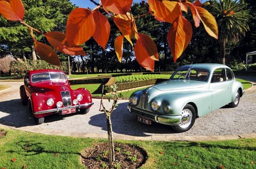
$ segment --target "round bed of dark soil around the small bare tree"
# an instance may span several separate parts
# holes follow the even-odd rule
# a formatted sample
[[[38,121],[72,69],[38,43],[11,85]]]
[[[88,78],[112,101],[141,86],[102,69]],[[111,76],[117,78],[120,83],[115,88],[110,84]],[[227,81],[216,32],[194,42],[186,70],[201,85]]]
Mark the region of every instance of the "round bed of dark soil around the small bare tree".
[[[109,162],[109,144],[95,144],[82,153],[82,164],[87,168],[139,168],[147,160],[142,148],[122,143],[114,143],[115,161]]]

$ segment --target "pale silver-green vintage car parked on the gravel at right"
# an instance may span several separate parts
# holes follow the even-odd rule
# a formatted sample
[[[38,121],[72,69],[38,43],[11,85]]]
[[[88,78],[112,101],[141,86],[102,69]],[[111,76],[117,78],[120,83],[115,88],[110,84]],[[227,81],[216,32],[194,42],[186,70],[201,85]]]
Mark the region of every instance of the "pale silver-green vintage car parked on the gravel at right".
[[[171,125],[184,132],[198,117],[227,104],[238,106],[244,92],[229,67],[192,64],[180,67],[167,81],[134,92],[127,108],[140,122]]]

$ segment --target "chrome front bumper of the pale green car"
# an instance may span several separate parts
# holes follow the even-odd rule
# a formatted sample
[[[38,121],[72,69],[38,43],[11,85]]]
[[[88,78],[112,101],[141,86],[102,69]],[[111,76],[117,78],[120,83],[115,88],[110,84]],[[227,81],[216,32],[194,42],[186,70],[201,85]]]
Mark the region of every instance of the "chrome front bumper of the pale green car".
[[[161,123],[165,125],[178,125],[181,123],[181,118],[182,118],[181,115],[176,115],[176,116],[159,115],[150,111],[145,111],[143,109],[132,107],[130,105],[128,105],[127,108],[132,114],[135,114],[137,116],[140,116],[146,119],[150,119],[156,123]]]

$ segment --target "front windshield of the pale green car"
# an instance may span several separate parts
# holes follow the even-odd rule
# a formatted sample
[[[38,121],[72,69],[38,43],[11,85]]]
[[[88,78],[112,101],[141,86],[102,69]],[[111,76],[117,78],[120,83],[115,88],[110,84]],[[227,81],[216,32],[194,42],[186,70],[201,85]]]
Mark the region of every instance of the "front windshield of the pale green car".
[[[176,71],[170,79],[207,80],[209,72],[203,69],[181,69]]]

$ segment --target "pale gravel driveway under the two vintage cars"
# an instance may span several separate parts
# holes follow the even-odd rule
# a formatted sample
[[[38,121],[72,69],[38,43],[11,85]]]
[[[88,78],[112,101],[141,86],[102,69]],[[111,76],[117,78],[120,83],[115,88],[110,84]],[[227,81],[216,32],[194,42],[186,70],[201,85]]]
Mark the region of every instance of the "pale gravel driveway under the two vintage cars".
[[[255,77],[254,77],[255,79]],[[256,81],[256,80],[255,80]],[[106,134],[105,115],[99,111],[100,100],[93,99],[94,105],[86,115],[72,114],[66,116],[52,115],[45,118],[45,123],[35,125],[32,115],[19,98],[19,86],[23,82],[0,82],[10,85],[11,89],[0,92],[0,124],[19,128],[33,126],[42,130],[58,132],[75,132]],[[137,122],[136,116],[127,110],[127,100],[119,100],[112,114],[112,127],[115,134],[127,136],[212,136],[239,135],[256,133],[256,86],[246,91],[236,108],[222,107],[210,114],[198,118],[187,132],[176,133],[169,126],[153,123],[147,126]],[[109,107],[108,100],[104,100]]]

